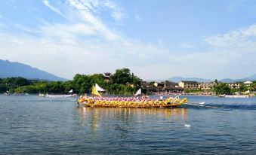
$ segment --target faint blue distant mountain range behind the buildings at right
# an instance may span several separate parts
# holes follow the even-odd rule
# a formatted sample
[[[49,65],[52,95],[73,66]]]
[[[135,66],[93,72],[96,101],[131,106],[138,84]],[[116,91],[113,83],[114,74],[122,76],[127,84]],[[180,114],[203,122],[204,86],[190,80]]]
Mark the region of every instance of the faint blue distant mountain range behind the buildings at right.
[[[160,82],[160,81],[172,81],[172,82],[180,82],[180,81],[197,81],[197,82],[211,82],[214,80],[209,80],[209,79],[204,79],[204,78],[182,78],[182,77],[173,77],[173,78],[168,78],[166,80],[149,80],[149,81],[156,81],[156,82]],[[243,81],[256,81],[256,74],[252,74],[251,76],[248,76],[246,78],[241,78],[241,79],[230,79],[230,78],[224,78],[221,80],[218,80],[221,82],[226,82],[226,83],[233,83],[233,82],[243,82]]]

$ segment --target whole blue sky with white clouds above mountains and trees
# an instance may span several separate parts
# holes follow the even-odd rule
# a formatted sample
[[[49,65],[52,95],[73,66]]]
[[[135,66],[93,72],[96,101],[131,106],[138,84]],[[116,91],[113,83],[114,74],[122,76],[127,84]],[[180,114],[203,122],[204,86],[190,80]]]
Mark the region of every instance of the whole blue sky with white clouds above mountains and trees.
[[[245,78],[256,73],[256,1],[0,0],[0,59],[67,79],[117,68]]]

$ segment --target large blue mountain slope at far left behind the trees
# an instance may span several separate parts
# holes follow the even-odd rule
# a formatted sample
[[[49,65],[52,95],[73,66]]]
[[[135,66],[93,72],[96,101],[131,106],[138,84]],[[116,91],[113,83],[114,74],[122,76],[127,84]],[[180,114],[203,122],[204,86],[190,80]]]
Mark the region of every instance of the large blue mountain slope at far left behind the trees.
[[[32,68],[30,65],[20,62],[9,62],[8,60],[0,59],[0,68],[0,78],[23,77],[48,81],[66,81],[64,78],[57,77],[38,68]]]

